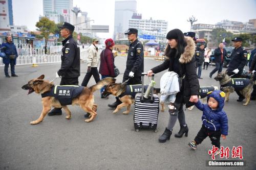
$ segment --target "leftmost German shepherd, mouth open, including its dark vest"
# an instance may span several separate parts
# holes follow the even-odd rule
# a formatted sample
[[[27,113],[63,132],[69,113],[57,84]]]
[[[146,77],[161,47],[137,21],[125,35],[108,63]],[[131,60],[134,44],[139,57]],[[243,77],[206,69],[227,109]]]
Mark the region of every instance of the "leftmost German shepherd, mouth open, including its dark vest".
[[[44,120],[44,117],[54,108],[63,108],[66,111],[66,118],[71,118],[71,112],[67,105],[79,105],[85,112],[90,113],[90,117],[85,122],[91,122],[97,115],[97,105],[94,104],[93,92],[101,89],[105,85],[113,83],[116,79],[108,77],[100,80],[91,87],[83,86],[54,86],[52,82],[43,80],[45,75],[41,75],[36,79],[30,80],[22,86],[22,89],[28,90],[28,94],[32,92],[41,94],[42,96],[42,112],[38,119],[30,122],[36,125]]]

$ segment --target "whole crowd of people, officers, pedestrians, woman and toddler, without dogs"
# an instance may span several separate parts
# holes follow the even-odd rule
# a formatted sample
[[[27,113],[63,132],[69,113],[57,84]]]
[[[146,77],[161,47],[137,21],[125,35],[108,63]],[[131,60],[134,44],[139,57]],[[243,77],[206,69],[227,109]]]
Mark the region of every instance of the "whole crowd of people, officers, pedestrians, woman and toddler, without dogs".
[[[64,22],[60,28],[60,34],[65,40],[62,41],[62,55],[61,66],[56,72],[56,78],[60,77],[60,85],[78,85],[78,77],[80,76],[80,51],[77,42],[72,37],[74,26],[68,22]],[[127,38],[131,41],[129,50],[127,52],[126,68],[124,71],[122,82],[127,81],[127,85],[141,84],[141,74],[144,71],[144,54],[143,45],[138,40],[138,30],[130,28],[125,33]],[[202,79],[202,69],[208,69],[211,50],[205,47],[204,44],[196,47],[195,33],[182,33],[179,29],[171,30],[167,33],[166,39],[168,44],[165,48],[166,59],[164,62],[147,71],[147,76],[157,74],[158,72],[168,69],[177,73],[180,81],[180,91],[176,94],[175,102],[172,103],[174,109],[169,109],[169,120],[163,134],[159,137],[159,142],[165,142],[170,139],[173,128],[177,122],[180,124],[180,130],[175,134],[175,137],[182,137],[188,135],[188,125],[185,119],[185,112],[183,105],[186,108],[196,105],[198,109],[203,111],[202,127],[189,146],[193,149],[197,148],[207,136],[209,136],[212,145],[220,149],[220,138],[226,138],[228,135],[228,119],[224,107],[225,93],[220,90],[210,92],[207,96],[207,104],[201,104],[198,99],[199,96],[199,81]],[[16,58],[18,57],[16,47],[11,41],[11,36],[6,37],[6,43],[1,46],[1,52],[5,53],[7,57],[3,59],[5,63],[5,76],[9,78],[8,67],[11,65],[11,76],[17,77],[14,71]],[[232,78],[239,78],[242,75],[244,66],[249,61],[249,71],[254,74],[256,70],[256,57],[254,49],[248,58],[247,51],[242,47],[242,38],[235,37],[233,40],[234,51],[231,54],[231,61],[227,68],[227,74]],[[88,49],[87,73],[81,83],[82,86],[87,86],[91,76],[94,77],[95,82],[100,81],[106,77],[116,77],[114,54],[112,53],[115,42],[109,38],[105,40],[105,49],[99,54],[98,39],[93,39],[91,46]],[[214,51],[215,68],[210,72],[209,77],[215,72],[221,72],[224,58],[227,52],[224,44],[220,43],[219,47]],[[99,58],[100,56],[100,58]],[[100,61],[99,71],[98,64]],[[198,71],[197,71],[198,69]],[[255,75],[255,74],[254,74]],[[255,76],[254,76],[255,80]],[[101,89],[101,93],[103,92]],[[237,91],[239,95],[238,101],[243,101],[244,97]],[[256,87],[253,86],[251,100],[255,100]],[[104,98],[104,96],[101,96]],[[121,104],[119,98],[108,106],[116,108]],[[52,109],[48,115],[61,115],[61,108]],[[88,117],[85,114],[84,117]]]

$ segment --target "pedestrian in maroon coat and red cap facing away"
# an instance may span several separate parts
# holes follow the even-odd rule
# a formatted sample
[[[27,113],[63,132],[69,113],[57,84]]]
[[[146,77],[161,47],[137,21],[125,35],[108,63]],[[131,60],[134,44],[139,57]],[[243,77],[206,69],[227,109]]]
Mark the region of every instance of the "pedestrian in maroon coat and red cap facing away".
[[[106,77],[115,77],[114,55],[112,53],[115,42],[113,39],[109,38],[105,40],[105,45],[106,48],[100,53],[99,74],[101,75],[101,79],[104,79]],[[105,87],[102,87],[100,89],[100,94],[102,94],[104,88]],[[101,98],[103,98],[102,95]],[[108,97],[103,99],[108,99]]]

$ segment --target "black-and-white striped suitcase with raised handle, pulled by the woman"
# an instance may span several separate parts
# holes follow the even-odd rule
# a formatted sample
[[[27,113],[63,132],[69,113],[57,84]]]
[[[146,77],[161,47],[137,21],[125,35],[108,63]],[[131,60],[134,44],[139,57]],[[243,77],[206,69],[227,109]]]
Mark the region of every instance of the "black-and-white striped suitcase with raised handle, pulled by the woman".
[[[144,75],[145,73],[142,74],[142,85],[144,84]],[[154,80],[154,75],[152,80]],[[148,99],[145,99],[143,98],[144,88],[142,86],[141,93],[137,93],[135,96],[134,128],[136,132],[142,128],[154,129],[154,132],[157,132],[159,97],[157,94],[153,94],[153,91],[154,89],[152,89]]]

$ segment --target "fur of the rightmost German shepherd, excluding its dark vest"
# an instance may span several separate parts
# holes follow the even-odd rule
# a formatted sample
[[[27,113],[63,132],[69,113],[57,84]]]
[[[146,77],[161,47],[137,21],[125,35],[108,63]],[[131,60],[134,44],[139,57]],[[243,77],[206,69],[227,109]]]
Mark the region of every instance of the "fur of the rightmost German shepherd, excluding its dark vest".
[[[220,85],[225,85],[232,81],[231,77],[229,77],[226,72],[219,72],[219,74],[214,79],[219,81]],[[250,95],[254,84],[256,84],[256,81],[253,81],[253,76],[251,76],[249,84],[240,90],[240,93],[246,99],[245,103],[243,104],[244,106],[250,103]],[[232,86],[224,86],[221,87],[221,90],[226,93],[225,102],[228,102],[230,93],[234,92],[235,89]]]

